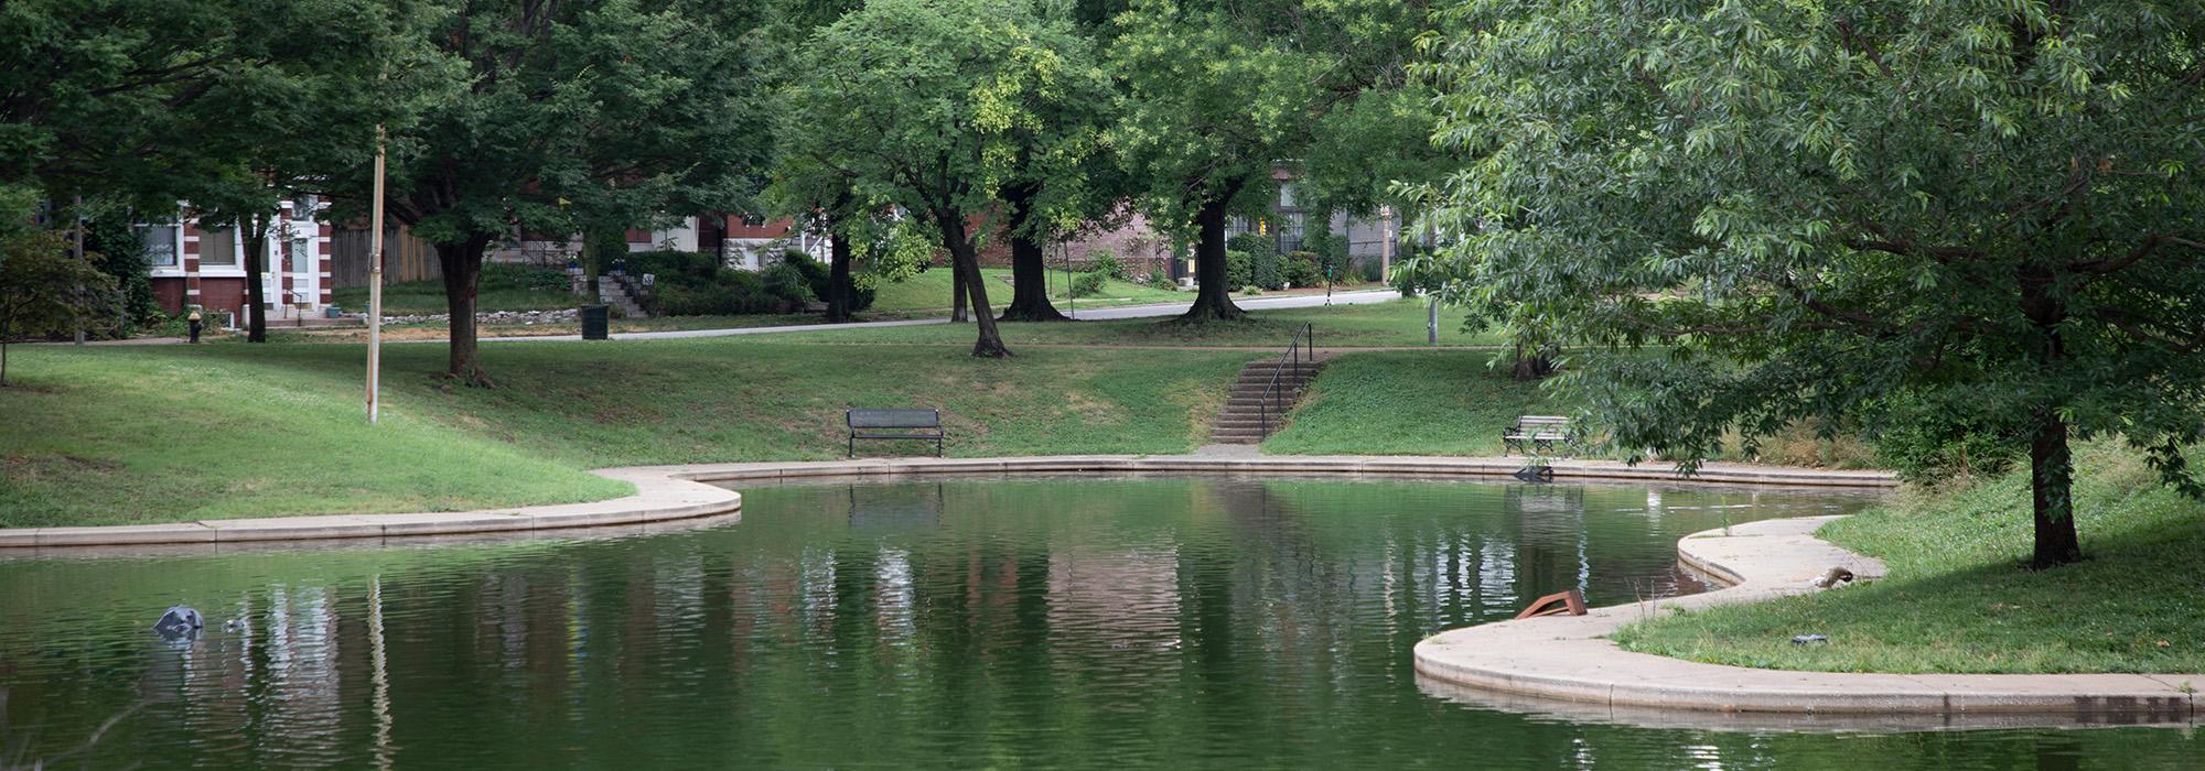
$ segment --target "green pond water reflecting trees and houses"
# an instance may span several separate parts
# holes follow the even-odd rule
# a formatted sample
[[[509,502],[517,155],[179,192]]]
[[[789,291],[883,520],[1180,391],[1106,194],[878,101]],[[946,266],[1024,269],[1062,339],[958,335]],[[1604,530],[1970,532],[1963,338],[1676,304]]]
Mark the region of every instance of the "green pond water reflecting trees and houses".
[[[1868,498],[1438,480],[743,487],[576,540],[0,560],[0,769],[2185,769],[2183,729],[1570,723],[1411,648],[1700,590],[1678,537]],[[209,626],[163,641],[190,604]],[[106,731],[101,727],[106,725]],[[93,736],[97,740],[90,740]]]

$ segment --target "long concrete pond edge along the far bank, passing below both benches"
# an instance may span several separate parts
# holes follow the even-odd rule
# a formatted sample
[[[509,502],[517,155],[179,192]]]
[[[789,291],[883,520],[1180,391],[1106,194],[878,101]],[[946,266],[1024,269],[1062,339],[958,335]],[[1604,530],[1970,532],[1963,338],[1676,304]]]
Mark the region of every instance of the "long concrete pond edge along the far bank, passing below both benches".
[[[1372,476],[1495,476],[1524,467],[1524,458],[1444,456],[1023,456],[1023,458],[856,458],[796,463],[701,463],[598,469],[593,474],[635,485],[635,496],[450,513],[342,513],[298,518],[198,520],[170,524],[101,524],[0,529],[0,555],[73,551],[86,546],[220,546],[247,542],[313,540],[415,540],[432,535],[481,535],[571,531],[589,526],[635,526],[739,513],[743,496],[708,482],[792,480],[829,476],[895,474],[1372,474]],[[1784,487],[1892,487],[1883,471],[1824,471],[1711,463],[1696,476],[1654,465],[1607,460],[1555,460],[1557,480],[1660,480],[1713,485]]]

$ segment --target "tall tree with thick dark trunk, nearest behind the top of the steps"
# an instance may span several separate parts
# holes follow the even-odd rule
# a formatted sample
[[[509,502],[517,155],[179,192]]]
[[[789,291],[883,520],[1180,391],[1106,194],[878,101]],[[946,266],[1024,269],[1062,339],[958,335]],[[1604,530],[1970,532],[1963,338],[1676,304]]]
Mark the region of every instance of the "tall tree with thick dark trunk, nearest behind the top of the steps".
[[[1105,44],[1122,84],[1111,143],[1144,211],[1195,234],[1184,319],[1235,319],[1226,225],[1255,214],[1325,117],[1398,70],[1422,2],[1133,0]]]

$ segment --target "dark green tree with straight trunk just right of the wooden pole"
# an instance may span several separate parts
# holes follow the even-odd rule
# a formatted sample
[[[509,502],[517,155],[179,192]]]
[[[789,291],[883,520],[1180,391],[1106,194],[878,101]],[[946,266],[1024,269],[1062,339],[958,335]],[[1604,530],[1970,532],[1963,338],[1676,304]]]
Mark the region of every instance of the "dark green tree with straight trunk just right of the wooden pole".
[[[736,170],[717,165],[745,154],[719,143],[747,141],[747,59],[723,40],[734,31],[712,24],[723,4],[703,0],[450,2],[430,40],[465,77],[392,134],[390,216],[437,249],[448,374],[485,386],[474,341],[483,251],[518,229],[578,227],[560,192],[591,183],[730,189]],[[633,207],[609,192],[584,200],[602,203],[598,214]]]

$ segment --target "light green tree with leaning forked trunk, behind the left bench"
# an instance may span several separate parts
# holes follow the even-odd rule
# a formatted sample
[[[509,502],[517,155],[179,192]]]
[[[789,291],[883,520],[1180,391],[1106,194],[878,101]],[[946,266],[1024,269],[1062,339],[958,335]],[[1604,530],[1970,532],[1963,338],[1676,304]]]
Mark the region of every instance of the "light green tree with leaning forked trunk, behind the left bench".
[[[1050,134],[1072,84],[1098,77],[1065,22],[1025,0],[878,0],[814,35],[787,93],[783,152],[849,181],[869,209],[924,220],[970,302],[977,357],[1008,357],[979,273],[975,218]],[[1041,145],[1047,148],[1047,145]]]

